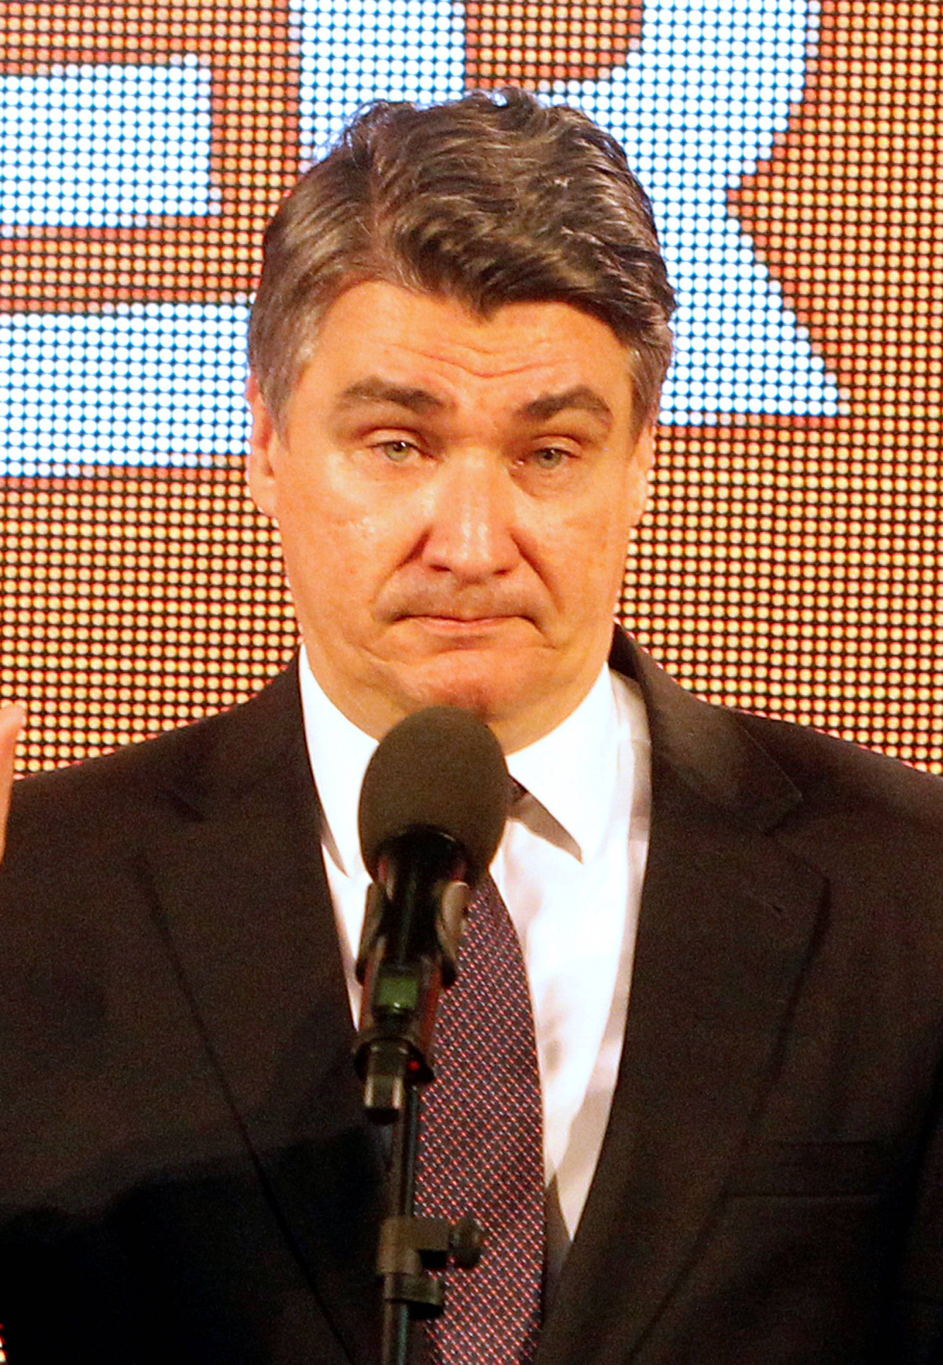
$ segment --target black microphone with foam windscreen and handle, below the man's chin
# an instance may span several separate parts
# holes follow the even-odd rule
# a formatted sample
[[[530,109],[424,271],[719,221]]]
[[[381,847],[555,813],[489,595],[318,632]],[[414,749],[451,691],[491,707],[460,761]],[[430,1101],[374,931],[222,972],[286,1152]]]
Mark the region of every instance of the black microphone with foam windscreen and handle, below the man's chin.
[[[497,738],[454,706],[400,721],[367,766],[359,830],[373,885],[355,1063],[377,1122],[404,1110],[407,1084],[433,1078],[438,999],[454,980],[465,908],[501,841],[509,794]]]

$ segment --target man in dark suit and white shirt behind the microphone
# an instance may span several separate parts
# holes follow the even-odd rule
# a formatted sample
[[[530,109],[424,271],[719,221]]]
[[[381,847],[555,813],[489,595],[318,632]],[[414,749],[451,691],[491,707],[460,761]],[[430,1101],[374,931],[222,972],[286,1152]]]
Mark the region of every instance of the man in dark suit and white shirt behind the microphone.
[[[528,793],[495,882],[557,1230],[536,1355],[482,1360],[943,1358],[943,799],[613,635],[670,310],[621,152],[524,96],[367,112],[282,206],[250,485],[302,658],[12,801],[11,1365],[378,1360],[345,811],[441,702]]]

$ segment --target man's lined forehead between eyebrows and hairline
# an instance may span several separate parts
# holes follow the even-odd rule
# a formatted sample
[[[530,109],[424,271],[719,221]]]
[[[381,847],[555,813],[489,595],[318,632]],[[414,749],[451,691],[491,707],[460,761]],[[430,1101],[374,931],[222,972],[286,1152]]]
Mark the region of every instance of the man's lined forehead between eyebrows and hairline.
[[[377,377],[444,407],[583,386],[613,410],[630,404],[630,352],[598,318],[566,303],[509,303],[487,317],[454,299],[385,281],[356,284],[328,310],[296,396],[338,401]]]

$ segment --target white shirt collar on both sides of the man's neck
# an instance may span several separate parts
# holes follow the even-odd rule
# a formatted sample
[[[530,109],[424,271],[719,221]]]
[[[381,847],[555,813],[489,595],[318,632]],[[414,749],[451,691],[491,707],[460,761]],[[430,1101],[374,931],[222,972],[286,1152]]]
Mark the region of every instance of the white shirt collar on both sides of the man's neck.
[[[325,848],[341,872],[364,874],[358,805],[377,740],[325,695],[302,647],[299,677],[308,759],[323,814]],[[603,665],[587,696],[550,734],[508,756],[508,768],[587,860],[607,829],[618,778],[620,715]]]

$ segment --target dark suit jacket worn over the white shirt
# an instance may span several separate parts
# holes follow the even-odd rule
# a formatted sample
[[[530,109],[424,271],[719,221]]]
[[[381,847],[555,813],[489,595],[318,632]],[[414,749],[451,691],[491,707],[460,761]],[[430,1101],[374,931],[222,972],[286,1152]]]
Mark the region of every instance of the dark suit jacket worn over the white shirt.
[[[614,663],[651,850],[539,1365],[938,1361],[940,784],[708,707],[621,636]],[[18,784],[0,902],[11,1365],[377,1361],[382,1149],[295,670]]]

